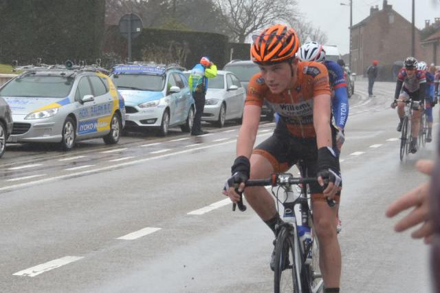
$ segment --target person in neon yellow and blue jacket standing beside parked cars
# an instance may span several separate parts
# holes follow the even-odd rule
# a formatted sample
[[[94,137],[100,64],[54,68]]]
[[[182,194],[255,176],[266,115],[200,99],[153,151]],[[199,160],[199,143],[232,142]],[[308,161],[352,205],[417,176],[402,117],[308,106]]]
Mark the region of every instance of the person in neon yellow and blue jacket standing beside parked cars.
[[[192,68],[188,83],[192,98],[195,102],[195,117],[192,123],[191,135],[201,135],[207,132],[201,130],[201,115],[205,107],[206,89],[208,89],[208,78],[217,76],[217,66],[208,57],[203,56],[200,63]]]

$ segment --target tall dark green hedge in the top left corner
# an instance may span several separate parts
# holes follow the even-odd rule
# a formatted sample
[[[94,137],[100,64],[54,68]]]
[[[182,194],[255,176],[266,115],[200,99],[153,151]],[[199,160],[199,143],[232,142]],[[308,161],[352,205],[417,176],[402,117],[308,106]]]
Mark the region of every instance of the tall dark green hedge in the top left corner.
[[[99,58],[105,0],[1,0],[0,63]]]

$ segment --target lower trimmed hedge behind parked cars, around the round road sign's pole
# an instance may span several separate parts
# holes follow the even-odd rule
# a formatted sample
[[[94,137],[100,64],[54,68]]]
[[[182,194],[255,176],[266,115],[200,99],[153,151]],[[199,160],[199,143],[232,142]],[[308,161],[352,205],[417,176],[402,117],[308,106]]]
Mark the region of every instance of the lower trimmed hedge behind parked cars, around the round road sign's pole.
[[[124,62],[128,56],[126,39],[119,33],[118,27],[110,26],[104,39],[104,56],[113,61]],[[179,63],[190,69],[208,56],[218,68],[229,61],[228,36],[210,32],[192,32],[185,30],[162,30],[144,28],[140,36],[133,40],[133,61],[154,61],[158,63]]]

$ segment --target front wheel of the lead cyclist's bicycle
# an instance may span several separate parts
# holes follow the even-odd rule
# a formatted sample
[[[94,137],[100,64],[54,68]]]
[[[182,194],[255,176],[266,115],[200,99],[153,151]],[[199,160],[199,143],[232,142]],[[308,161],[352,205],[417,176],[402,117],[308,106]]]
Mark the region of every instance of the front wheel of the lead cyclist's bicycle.
[[[300,283],[300,248],[293,228],[281,228],[275,244],[274,292],[303,292]]]

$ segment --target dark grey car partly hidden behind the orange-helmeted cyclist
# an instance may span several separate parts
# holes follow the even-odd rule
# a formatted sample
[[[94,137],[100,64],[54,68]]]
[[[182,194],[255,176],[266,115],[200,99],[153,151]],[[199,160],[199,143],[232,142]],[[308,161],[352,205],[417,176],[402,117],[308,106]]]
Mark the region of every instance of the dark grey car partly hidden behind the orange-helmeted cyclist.
[[[248,91],[248,83],[250,78],[256,73],[260,72],[258,65],[250,60],[232,60],[230,63],[223,67],[223,70],[234,73],[240,80],[241,85]],[[261,108],[261,115],[264,115],[266,120],[274,120],[274,109],[269,105],[269,103],[264,101],[264,105]]]

